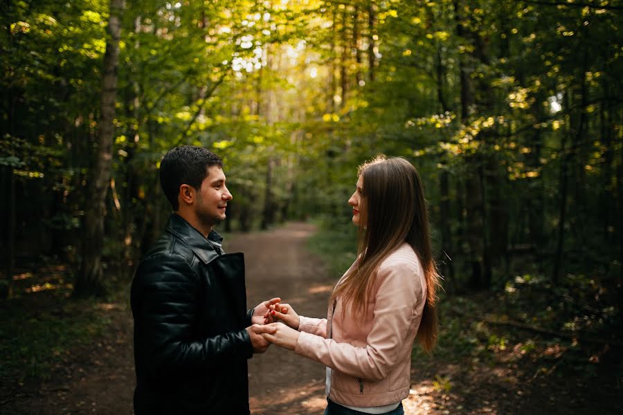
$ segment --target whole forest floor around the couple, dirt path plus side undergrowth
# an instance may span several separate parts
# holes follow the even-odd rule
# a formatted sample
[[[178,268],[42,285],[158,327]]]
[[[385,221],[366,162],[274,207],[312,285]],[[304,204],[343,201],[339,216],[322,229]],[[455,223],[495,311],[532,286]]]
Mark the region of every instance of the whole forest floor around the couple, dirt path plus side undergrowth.
[[[336,278],[329,277],[323,261],[307,250],[305,241],[313,232],[312,225],[289,223],[226,239],[228,252],[244,252],[249,306],[280,296],[302,315],[325,315]],[[54,272],[53,268],[48,271]],[[36,278],[38,285],[33,285]],[[62,286],[61,277],[48,277],[44,282],[40,275],[30,279],[26,285],[31,291],[33,286]],[[8,316],[0,322],[0,364],[5,366],[0,368],[0,414],[132,414],[135,380],[129,290],[116,301],[95,306],[80,302],[67,306],[68,300],[54,297],[51,291],[41,289],[0,302],[0,312]],[[411,393],[403,401],[406,414],[622,413],[620,345],[597,344],[586,360],[575,340],[548,338],[548,333],[534,338],[530,329],[521,328],[505,335],[508,327],[491,320],[498,306],[498,299],[490,293],[455,297],[442,304],[440,351],[431,357],[414,352]],[[26,359],[23,365],[8,361],[26,356],[22,348],[28,345],[10,343],[5,335],[16,338],[39,321],[51,325],[80,315],[91,324],[86,334],[75,332],[71,347],[53,347],[45,374],[39,368],[33,369],[36,376],[29,375],[24,365],[33,367],[33,362]],[[84,327],[84,322],[79,324]],[[482,331],[485,338],[443,335],[444,331],[463,333],[464,328],[478,331],[487,324],[491,327]],[[54,342],[55,333],[71,333],[70,327],[60,326],[58,332],[49,329],[46,333],[52,340],[44,340]],[[45,346],[37,347],[49,352]],[[249,361],[254,415],[321,414],[326,405],[324,387],[322,365],[277,347]]]

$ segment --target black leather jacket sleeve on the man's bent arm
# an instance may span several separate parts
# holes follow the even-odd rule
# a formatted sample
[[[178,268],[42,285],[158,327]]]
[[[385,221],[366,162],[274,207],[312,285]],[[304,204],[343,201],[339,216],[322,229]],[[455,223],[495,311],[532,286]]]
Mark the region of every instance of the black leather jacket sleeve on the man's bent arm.
[[[132,282],[136,353],[154,374],[204,371],[224,359],[253,355],[242,329],[209,338],[193,338],[199,278],[179,255],[145,259]]]

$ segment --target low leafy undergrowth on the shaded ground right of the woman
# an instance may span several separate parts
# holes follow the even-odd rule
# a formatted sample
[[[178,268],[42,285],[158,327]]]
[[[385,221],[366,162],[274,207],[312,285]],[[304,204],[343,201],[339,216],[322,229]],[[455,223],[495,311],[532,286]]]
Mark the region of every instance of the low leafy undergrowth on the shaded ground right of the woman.
[[[529,380],[595,378],[602,356],[621,343],[603,293],[586,278],[568,276],[552,287],[547,279],[522,276],[498,293],[444,298],[437,347],[427,355],[416,345],[413,362],[498,367]]]

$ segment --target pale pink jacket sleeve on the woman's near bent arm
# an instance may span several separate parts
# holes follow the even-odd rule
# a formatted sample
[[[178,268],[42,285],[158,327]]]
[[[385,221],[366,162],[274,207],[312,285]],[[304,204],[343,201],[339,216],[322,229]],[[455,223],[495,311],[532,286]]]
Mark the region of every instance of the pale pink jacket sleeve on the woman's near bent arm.
[[[386,378],[397,364],[424,301],[421,271],[411,264],[383,264],[377,275],[372,328],[365,344],[338,343],[300,333],[295,353],[344,374],[368,380]]]

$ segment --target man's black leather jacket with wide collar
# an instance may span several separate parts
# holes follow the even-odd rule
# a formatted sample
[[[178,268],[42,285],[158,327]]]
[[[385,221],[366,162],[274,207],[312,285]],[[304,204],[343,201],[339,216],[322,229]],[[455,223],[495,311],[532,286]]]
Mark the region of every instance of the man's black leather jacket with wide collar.
[[[136,414],[249,414],[244,257],[223,254],[220,241],[172,214],[138,266]]]

